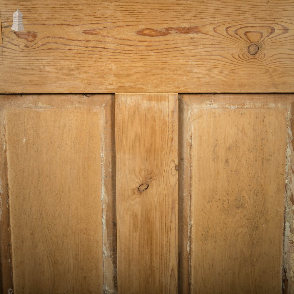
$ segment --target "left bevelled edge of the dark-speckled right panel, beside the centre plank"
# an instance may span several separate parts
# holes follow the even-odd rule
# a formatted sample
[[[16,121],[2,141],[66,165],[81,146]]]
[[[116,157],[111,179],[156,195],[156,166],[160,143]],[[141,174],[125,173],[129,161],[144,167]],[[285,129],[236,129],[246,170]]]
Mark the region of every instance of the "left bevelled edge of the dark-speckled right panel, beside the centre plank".
[[[178,293],[191,293],[191,141],[189,106],[179,96]]]

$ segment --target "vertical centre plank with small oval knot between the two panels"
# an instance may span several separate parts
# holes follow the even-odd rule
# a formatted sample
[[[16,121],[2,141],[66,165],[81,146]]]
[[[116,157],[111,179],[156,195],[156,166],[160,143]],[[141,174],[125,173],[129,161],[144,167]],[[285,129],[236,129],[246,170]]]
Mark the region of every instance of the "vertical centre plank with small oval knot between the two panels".
[[[177,293],[177,94],[116,94],[115,126],[118,293]]]

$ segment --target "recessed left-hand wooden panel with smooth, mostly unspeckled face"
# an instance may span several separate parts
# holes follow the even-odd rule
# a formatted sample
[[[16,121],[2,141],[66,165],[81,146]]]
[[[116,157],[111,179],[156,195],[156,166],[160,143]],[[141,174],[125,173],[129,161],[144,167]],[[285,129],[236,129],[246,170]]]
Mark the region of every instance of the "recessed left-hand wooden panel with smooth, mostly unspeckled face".
[[[14,293],[115,293],[112,97],[0,96]]]

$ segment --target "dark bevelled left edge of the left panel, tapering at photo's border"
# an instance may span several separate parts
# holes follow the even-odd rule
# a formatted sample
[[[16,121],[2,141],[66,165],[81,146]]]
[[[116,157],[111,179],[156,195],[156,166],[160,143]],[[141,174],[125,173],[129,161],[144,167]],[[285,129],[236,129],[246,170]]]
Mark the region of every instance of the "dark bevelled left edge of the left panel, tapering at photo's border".
[[[10,233],[10,214],[9,214],[9,183],[8,167],[6,156],[6,126],[5,113],[0,110],[1,119],[1,226],[0,226],[0,271],[1,271],[1,289],[0,293],[13,293],[13,275],[12,275],[12,256],[11,256],[11,233]],[[11,292],[12,291],[12,292]]]

